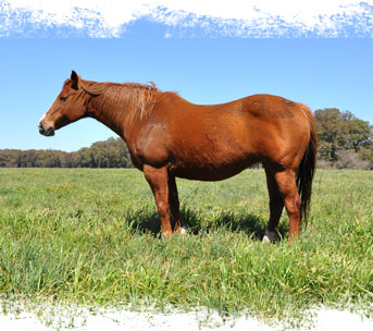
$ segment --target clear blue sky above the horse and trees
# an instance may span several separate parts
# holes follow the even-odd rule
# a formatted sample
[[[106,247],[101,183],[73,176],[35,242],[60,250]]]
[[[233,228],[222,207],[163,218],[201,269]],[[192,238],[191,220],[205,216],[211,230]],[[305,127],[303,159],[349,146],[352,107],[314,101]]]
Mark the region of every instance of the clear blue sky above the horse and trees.
[[[247,19],[235,12],[232,17],[221,17],[219,12],[206,14],[190,8],[173,8],[165,19],[159,12],[141,16],[137,10],[127,22],[107,26],[103,14],[103,19],[97,14],[94,21],[89,16],[83,23],[71,23],[52,13],[48,17],[54,21],[50,23],[49,19],[37,21],[30,8],[9,14],[5,2],[0,2],[0,149],[77,150],[115,136],[90,119],[63,127],[50,138],[38,134],[38,120],[71,70],[98,82],[153,81],[162,90],[178,91],[196,103],[274,94],[313,110],[349,110],[373,123],[371,1],[364,2],[361,16],[351,21],[345,13],[338,24],[324,29],[324,35],[319,23],[313,33],[308,28],[315,24],[310,17],[304,16],[304,24],[299,25],[289,21],[291,15],[281,16],[282,12],[275,14],[270,27],[251,21],[245,25]],[[108,17],[116,22],[111,15]],[[338,17],[333,15],[326,26]],[[92,30],[102,32],[97,32],[95,24],[109,35],[97,38]],[[285,37],[278,36],[282,24]]]

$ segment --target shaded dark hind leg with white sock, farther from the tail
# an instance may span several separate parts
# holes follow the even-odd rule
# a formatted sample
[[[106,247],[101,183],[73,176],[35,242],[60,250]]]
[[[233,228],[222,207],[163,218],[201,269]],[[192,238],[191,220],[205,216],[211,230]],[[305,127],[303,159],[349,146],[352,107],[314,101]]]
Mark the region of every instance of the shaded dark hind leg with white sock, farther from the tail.
[[[284,200],[279,194],[274,174],[266,167],[265,175],[266,186],[270,195],[270,221],[266,226],[262,243],[271,243],[277,237],[278,222],[284,209]]]

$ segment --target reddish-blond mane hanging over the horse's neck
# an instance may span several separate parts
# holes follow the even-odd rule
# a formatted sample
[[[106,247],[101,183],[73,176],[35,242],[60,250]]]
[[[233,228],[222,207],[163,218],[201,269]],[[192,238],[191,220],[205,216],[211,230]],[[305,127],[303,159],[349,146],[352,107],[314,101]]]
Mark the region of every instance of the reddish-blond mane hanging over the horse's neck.
[[[97,83],[79,79],[82,89],[99,97],[96,99],[101,109],[112,112],[114,117],[123,117],[129,111],[130,123],[149,114],[156,103],[154,93],[159,89],[156,84],[139,83]]]

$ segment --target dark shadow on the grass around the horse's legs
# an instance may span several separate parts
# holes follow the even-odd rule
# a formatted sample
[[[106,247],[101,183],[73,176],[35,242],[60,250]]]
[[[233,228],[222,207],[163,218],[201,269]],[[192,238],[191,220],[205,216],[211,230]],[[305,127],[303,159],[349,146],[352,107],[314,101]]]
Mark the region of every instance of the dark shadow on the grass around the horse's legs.
[[[254,214],[236,214],[234,212],[221,212],[212,219],[206,220],[196,210],[184,208],[181,210],[184,222],[189,232],[199,234],[210,232],[215,229],[225,229],[226,231],[244,231],[248,236],[254,240],[262,240],[268,221]],[[158,212],[137,210],[126,216],[130,228],[141,233],[152,233],[158,236],[161,232],[161,221]],[[172,226],[175,225],[171,218]],[[288,233],[288,225],[281,222],[278,232],[282,237]]]

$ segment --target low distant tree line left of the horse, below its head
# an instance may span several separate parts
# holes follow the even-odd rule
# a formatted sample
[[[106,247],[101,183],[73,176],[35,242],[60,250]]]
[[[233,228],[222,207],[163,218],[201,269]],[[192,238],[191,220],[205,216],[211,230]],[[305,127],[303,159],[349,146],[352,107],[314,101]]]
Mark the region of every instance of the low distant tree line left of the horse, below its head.
[[[51,149],[1,149],[0,167],[132,168],[133,164],[125,143],[121,138],[109,138],[73,152]]]

